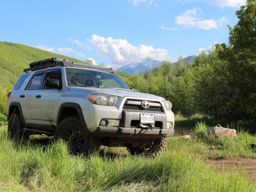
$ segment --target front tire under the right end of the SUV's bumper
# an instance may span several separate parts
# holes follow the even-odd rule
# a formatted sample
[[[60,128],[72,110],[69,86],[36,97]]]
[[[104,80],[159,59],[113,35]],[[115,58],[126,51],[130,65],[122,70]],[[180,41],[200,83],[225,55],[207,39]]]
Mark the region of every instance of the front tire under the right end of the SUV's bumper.
[[[144,147],[127,147],[131,155],[155,156],[164,151],[167,146],[167,138],[154,139],[148,148]]]

